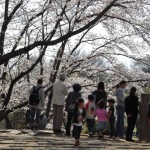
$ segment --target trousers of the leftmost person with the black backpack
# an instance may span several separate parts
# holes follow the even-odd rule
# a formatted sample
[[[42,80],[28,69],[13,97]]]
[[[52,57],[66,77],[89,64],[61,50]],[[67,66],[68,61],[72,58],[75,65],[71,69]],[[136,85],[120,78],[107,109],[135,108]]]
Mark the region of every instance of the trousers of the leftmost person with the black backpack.
[[[39,125],[40,113],[41,113],[40,109],[31,108],[31,111],[30,111],[31,124],[33,124],[35,122],[36,124]]]

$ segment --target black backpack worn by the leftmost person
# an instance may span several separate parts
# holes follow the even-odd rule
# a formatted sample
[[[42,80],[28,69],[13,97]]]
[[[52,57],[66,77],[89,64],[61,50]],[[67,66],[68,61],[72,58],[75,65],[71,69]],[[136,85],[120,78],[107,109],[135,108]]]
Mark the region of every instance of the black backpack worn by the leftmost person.
[[[39,90],[41,88],[42,87],[35,89],[35,86],[33,86],[33,90],[32,90],[30,97],[29,97],[29,105],[33,105],[33,106],[39,105],[39,103],[40,103]]]

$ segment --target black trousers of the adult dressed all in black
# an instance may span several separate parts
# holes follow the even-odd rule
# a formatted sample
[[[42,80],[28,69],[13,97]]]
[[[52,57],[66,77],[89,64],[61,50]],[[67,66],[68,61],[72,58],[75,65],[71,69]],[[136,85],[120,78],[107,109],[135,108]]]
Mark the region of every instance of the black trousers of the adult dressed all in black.
[[[136,120],[137,120],[137,115],[127,118],[128,126],[127,126],[126,139],[129,139],[129,140],[132,139],[133,130],[134,130],[134,127],[136,124]]]

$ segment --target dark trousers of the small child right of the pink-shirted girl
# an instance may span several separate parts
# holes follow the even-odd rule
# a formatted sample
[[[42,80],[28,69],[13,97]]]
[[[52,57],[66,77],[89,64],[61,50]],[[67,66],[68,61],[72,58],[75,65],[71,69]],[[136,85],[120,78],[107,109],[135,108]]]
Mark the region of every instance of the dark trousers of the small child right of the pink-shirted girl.
[[[110,136],[117,136],[117,131],[115,128],[115,117],[109,118],[109,126],[110,126]]]

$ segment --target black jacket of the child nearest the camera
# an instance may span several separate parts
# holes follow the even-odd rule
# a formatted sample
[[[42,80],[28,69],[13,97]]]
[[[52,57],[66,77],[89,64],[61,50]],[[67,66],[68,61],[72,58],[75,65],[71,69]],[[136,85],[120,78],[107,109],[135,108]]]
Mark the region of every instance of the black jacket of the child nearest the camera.
[[[79,118],[80,115],[81,115],[83,118],[85,118],[85,115],[86,115],[85,109],[83,108],[83,111],[82,111],[82,113],[80,114],[79,109],[78,109],[78,108],[75,108],[75,109],[74,109],[74,112],[73,112],[73,121],[72,121],[72,123],[79,123],[78,118]]]

